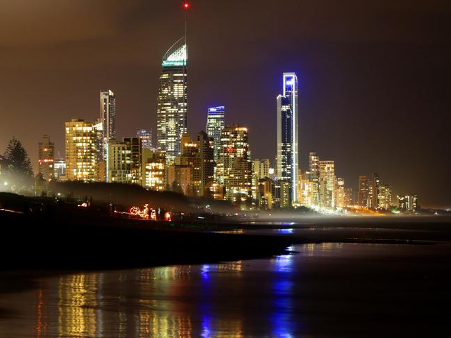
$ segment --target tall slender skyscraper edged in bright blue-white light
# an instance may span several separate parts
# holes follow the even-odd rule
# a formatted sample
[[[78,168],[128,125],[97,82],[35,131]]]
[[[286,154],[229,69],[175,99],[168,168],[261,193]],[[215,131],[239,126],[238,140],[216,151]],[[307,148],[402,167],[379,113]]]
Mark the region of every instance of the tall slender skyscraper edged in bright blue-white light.
[[[289,204],[297,202],[297,77],[284,73],[284,94],[277,96],[277,176],[289,182]]]

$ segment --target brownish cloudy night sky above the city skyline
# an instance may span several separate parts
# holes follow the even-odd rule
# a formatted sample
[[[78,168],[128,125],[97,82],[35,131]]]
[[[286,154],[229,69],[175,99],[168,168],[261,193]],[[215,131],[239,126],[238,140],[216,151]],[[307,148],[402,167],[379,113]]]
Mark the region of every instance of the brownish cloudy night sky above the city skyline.
[[[3,0],[0,152],[15,135],[37,168],[49,134],[95,121],[117,96],[118,137],[156,130],[161,57],[183,35],[179,0]],[[451,1],[206,1],[188,13],[188,130],[206,108],[249,128],[253,158],[276,153],[281,73],[300,81],[300,165],[335,160],[356,187],[377,172],[395,194],[451,207]],[[156,133],[154,133],[156,134]],[[154,142],[156,141],[154,135]]]

